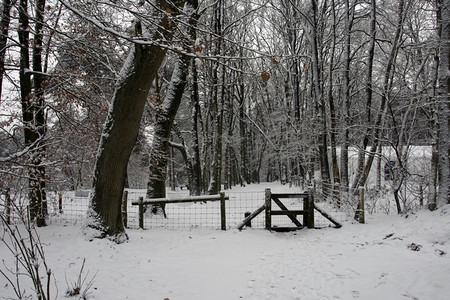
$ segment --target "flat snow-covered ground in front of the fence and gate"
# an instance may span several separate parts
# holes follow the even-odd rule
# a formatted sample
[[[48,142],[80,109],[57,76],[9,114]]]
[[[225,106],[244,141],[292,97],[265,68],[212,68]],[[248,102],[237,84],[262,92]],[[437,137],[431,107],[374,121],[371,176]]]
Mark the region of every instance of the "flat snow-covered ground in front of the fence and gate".
[[[119,245],[88,241],[79,226],[38,231],[54,299],[65,299],[83,260],[88,299],[450,299],[450,205],[366,221],[289,233],[129,229]],[[4,244],[0,255],[5,270],[13,257]],[[3,277],[0,296],[14,299]]]

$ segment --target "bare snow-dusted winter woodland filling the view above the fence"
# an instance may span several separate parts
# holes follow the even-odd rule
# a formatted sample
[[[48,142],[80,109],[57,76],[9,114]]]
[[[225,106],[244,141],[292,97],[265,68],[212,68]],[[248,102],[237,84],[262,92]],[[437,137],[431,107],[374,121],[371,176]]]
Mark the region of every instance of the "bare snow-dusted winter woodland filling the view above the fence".
[[[11,206],[44,228],[50,195],[78,190],[90,191],[84,232],[117,246],[129,238],[126,188],[159,199],[277,182],[350,203],[355,214],[361,188],[371,199],[389,195],[400,215],[437,216],[450,204],[449,0],[0,8],[1,228]],[[166,214],[164,205],[152,212]],[[43,255],[40,245],[29,253]]]

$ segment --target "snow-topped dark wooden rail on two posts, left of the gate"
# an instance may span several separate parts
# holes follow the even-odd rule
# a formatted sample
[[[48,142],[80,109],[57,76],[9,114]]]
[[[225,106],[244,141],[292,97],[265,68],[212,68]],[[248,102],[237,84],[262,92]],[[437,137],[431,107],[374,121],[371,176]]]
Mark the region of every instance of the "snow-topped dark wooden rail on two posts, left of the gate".
[[[186,196],[183,198],[153,198],[145,199],[144,197],[139,197],[139,200],[132,201],[132,205],[139,205],[139,227],[144,229],[144,206],[146,205],[162,205],[162,204],[173,204],[173,203],[196,203],[196,202],[210,202],[210,201],[220,201],[220,228],[226,230],[226,209],[225,200],[229,200],[225,193],[220,193],[219,195],[205,195],[205,196]]]

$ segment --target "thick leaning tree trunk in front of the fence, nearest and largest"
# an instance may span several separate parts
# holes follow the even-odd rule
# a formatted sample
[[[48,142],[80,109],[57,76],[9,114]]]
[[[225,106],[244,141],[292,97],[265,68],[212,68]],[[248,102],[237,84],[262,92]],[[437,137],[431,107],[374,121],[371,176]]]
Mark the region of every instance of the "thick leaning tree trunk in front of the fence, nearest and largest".
[[[184,1],[156,1],[156,32],[144,32],[150,40],[172,39],[173,12]],[[153,29],[154,30],[154,29]],[[135,44],[122,67],[106,123],[100,138],[94,169],[93,192],[85,231],[92,237],[109,237],[116,242],[126,237],[121,204],[128,159],[136,140],[151,84],[166,54],[159,45]],[[89,230],[93,229],[93,230]],[[91,231],[91,232],[89,232]]]

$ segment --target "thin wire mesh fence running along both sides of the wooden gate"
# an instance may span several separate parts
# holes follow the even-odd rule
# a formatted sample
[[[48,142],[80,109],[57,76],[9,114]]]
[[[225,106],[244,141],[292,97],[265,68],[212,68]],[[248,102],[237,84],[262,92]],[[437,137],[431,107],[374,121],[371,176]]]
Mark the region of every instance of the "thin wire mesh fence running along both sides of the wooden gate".
[[[140,197],[145,198],[145,190],[127,189],[126,206],[126,226],[128,228],[139,228],[139,207],[132,205]],[[48,224],[63,225],[81,225],[86,217],[89,205],[90,191],[68,191],[61,193],[49,193],[47,195]],[[167,198],[180,198],[188,196],[189,191],[168,192]],[[226,227],[227,229],[236,228],[246,215],[256,211],[265,204],[265,191],[225,191],[229,198],[225,201],[226,207]],[[0,211],[4,214],[5,195],[0,199]],[[302,209],[302,198],[283,199],[283,204],[292,210]],[[339,222],[345,222],[351,217],[344,207],[338,207],[335,204],[321,200],[316,196],[315,201],[328,214],[333,216]],[[14,201],[12,201],[14,203]],[[18,202],[17,202],[18,203]],[[273,204],[275,205],[275,204]],[[276,207],[276,205],[275,205]],[[195,202],[195,203],[170,203],[165,205],[164,216],[156,212],[152,207],[147,206],[144,213],[144,228],[166,228],[166,229],[220,229],[221,228],[221,210],[220,202]],[[20,209],[13,209],[10,213],[11,219],[19,220],[26,214],[25,203],[20,203]],[[302,217],[298,217],[303,223]],[[287,216],[272,216],[273,226],[292,226],[292,221]],[[324,218],[320,213],[315,213],[315,227],[323,228],[331,226],[331,222]],[[253,228],[265,228],[265,214],[260,213],[251,221]]]

